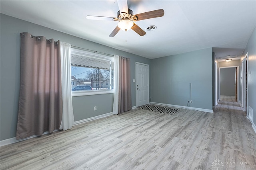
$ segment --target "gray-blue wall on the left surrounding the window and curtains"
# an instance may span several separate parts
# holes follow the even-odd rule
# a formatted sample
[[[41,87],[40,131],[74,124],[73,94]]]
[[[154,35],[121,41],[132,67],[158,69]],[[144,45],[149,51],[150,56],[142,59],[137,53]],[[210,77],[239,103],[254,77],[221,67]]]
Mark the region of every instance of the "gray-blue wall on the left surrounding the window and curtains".
[[[71,43],[74,46],[116,54],[130,58],[131,79],[135,79],[135,62],[149,64],[150,59],[126,53],[98,43],[93,43],[47,27],[42,27],[4,14],[1,17],[1,109],[0,109],[0,140],[16,137],[18,115],[18,96],[20,85],[20,33],[29,32],[35,36],[45,36],[47,39]],[[150,76],[150,72],[149,72]],[[149,79],[150,83],[151,79]],[[132,106],[136,105],[135,83],[132,86]],[[93,96],[73,97],[74,118],[76,121],[96,115],[112,112],[113,95],[102,94]],[[92,110],[92,104],[97,103],[97,111]],[[95,105],[94,105],[95,106]],[[85,111],[86,109],[86,111]]]

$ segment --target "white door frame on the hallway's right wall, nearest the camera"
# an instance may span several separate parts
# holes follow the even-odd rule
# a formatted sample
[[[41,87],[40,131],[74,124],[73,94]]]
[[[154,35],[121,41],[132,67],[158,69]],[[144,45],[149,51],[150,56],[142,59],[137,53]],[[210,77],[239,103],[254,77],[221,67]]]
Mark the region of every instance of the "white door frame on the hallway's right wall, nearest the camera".
[[[248,53],[244,56],[242,60],[242,107],[243,111],[247,112],[248,106],[248,77],[246,78],[248,70]],[[248,113],[247,113],[248,116]]]

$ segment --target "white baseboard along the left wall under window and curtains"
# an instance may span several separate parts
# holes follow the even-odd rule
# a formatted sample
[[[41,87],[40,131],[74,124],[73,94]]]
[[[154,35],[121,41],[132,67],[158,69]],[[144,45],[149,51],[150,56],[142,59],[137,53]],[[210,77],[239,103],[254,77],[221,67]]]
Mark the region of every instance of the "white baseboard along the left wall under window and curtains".
[[[95,119],[100,119],[102,117],[107,117],[107,116],[110,116],[112,115],[112,112],[110,113],[106,113],[106,114],[103,114],[103,115],[98,115],[98,116],[95,116],[95,117],[90,117],[88,119],[83,119],[83,120],[79,120],[79,121],[75,121],[75,125],[78,125],[80,123],[84,123],[84,122],[87,122],[87,121],[92,121],[92,120],[95,120]],[[55,131],[58,131],[58,130],[54,130]],[[45,135],[45,134],[48,134],[48,132],[44,132],[42,135]],[[24,140],[27,140],[27,139],[30,139],[30,138],[34,138],[34,137],[38,137],[38,135],[33,135],[33,136],[30,136],[30,137],[27,137],[27,138],[24,138],[24,139],[19,139],[19,140],[16,140],[16,137],[13,137],[13,138],[10,138],[10,139],[5,139],[5,140],[2,140],[0,141],[0,146],[5,146],[5,145],[10,145],[12,143],[16,143],[16,142],[20,142],[20,141],[24,141]]]

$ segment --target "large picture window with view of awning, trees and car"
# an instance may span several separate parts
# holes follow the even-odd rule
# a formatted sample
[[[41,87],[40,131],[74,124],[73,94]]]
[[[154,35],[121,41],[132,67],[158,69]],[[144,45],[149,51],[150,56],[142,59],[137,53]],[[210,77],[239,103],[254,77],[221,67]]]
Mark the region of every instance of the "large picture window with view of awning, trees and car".
[[[72,96],[112,93],[113,68],[114,57],[72,49]]]

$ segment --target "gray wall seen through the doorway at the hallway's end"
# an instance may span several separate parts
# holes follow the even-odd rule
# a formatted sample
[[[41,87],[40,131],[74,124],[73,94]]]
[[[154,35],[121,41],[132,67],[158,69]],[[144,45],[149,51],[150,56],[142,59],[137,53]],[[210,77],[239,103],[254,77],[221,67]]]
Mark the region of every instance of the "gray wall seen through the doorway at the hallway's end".
[[[220,69],[220,95],[236,96],[236,68]]]

